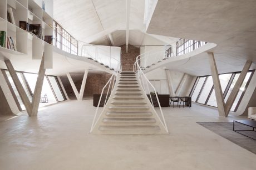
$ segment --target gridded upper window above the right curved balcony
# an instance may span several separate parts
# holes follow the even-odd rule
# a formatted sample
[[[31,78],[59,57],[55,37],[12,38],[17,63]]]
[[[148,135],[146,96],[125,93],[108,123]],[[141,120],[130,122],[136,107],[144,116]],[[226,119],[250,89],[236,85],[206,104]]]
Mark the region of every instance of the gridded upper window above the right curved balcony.
[[[197,40],[190,39],[180,39],[177,42],[177,56],[189,53],[201,46],[206,44],[206,42],[199,42]]]

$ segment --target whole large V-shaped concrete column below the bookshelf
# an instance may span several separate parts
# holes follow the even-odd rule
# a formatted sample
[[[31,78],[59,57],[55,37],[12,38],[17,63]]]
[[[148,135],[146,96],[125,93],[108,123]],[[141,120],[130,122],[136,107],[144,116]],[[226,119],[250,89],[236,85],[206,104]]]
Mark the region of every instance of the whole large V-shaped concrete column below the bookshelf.
[[[6,63],[7,69],[13,79],[13,83],[16,86],[19,95],[21,96],[21,100],[22,100],[29,116],[37,116],[39,102],[41,99],[43,79],[45,78],[45,71],[46,71],[46,69],[44,68],[44,63],[45,63],[44,61],[45,61],[45,54],[43,54],[43,57],[41,60],[32,103],[29,101],[26,91],[23,89],[21,81],[19,81],[18,76],[16,74],[16,71],[13,68],[11,61],[10,60],[4,61],[4,63]]]

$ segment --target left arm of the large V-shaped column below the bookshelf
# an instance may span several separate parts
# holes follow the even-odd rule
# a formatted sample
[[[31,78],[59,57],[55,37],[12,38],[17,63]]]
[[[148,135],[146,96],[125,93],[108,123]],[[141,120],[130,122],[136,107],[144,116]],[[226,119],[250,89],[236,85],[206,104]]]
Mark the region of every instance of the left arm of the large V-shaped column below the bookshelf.
[[[31,115],[31,103],[28,99],[26,91],[23,89],[21,81],[19,81],[18,75],[16,74],[16,71],[14,70],[11,61],[5,60],[4,63],[6,63],[7,69],[12,77],[13,83],[16,86],[19,96],[21,96],[21,100],[27,110],[28,115],[30,116]]]

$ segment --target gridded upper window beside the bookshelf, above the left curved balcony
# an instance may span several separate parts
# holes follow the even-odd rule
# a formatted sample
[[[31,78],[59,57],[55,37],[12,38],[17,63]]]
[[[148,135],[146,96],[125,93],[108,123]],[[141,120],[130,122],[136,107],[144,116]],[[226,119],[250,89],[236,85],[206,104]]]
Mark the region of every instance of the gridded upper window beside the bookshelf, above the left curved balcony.
[[[78,41],[68,34],[56,21],[53,22],[53,27],[53,45],[67,53],[77,55]]]

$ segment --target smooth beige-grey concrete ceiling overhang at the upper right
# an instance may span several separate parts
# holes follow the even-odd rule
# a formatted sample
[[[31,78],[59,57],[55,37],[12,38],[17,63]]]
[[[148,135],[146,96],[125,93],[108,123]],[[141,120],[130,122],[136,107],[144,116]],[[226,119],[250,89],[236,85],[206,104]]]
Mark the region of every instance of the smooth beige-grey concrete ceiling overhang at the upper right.
[[[161,0],[147,33],[215,43],[217,46],[210,51],[216,60],[225,63],[219,68],[234,70],[246,60],[256,61],[255,9],[254,0]],[[197,58],[194,64],[201,59]],[[201,74],[201,70],[192,70],[195,75]]]

